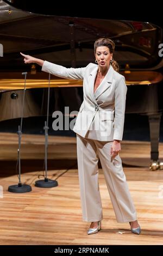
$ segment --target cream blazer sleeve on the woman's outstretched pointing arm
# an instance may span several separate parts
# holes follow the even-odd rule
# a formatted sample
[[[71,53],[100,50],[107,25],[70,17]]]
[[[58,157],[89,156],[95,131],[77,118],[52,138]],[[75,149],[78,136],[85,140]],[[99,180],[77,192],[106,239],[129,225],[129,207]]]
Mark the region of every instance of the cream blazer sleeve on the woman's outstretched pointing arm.
[[[51,62],[47,62],[45,60],[45,62],[43,62],[41,70],[62,78],[83,80],[87,66],[77,69],[65,68],[65,66],[57,65]]]

